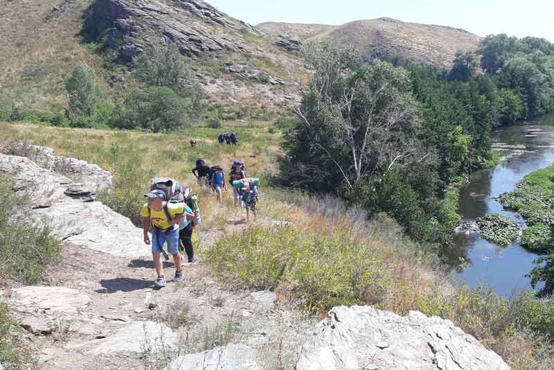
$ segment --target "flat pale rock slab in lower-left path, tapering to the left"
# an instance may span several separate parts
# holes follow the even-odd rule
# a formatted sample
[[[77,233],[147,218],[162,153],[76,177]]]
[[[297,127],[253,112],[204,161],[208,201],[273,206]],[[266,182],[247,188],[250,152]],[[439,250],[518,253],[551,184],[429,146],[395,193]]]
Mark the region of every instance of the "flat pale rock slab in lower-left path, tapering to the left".
[[[88,355],[118,355],[142,353],[148,349],[166,350],[177,346],[177,334],[166,324],[154,321],[132,321],[108,337],[69,345],[69,349],[86,349]]]

